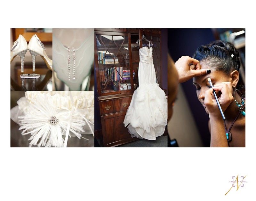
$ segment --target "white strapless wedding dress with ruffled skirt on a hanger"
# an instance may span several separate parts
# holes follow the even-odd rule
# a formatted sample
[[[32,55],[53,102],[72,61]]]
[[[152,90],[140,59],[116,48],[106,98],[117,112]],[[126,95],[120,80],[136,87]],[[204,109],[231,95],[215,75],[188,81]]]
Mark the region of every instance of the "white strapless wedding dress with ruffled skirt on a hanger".
[[[131,104],[124,118],[132,137],[156,140],[167,124],[167,99],[156,83],[152,47],[139,50],[139,87],[132,95]]]

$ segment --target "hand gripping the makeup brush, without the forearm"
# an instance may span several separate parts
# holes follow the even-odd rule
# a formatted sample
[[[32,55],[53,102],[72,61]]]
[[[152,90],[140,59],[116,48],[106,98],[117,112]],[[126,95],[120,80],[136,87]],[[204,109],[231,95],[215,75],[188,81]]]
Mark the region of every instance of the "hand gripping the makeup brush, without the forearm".
[[[204,105],[209,112],[209,115],[216,114],[218,116],[220,115],[220,110],[215,100],[213,90],[216,91],[216,95],[220,102],[221,109],[224,112],[228,108],[228,106],[234,101],[234,97],[232,95],[233,88],[231,82],[223,82],[215,84],[214,87],[205,91]]]

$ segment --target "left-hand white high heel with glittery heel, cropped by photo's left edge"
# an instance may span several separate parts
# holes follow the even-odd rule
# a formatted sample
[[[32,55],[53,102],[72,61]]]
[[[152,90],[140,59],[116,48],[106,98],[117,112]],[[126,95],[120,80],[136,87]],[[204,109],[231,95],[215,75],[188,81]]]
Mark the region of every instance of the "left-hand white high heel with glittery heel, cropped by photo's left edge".
[[[11,63],[12,63],[12,60],[17,55],[20,56],[21,74],[23,74],[24,72],[24,57],[27,51],[28,51],[28,43],[26,39],[22,35],[20,35],[19,38],[14,42],[11,49]]]

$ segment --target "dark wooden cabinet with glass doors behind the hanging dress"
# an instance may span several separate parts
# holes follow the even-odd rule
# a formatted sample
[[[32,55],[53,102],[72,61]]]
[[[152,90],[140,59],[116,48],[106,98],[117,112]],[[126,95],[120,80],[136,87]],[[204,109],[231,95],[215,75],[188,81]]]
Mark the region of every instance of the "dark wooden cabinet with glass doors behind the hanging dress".
[[[156,82],[162,87],[160,29],[95,29],[95,116],[100,117],[104,147],[137,140],[123,122],[133,91],[139,87],[139,49],[148,43],[142,40],[139,46],[136,41],[143,33],[153,43]]]

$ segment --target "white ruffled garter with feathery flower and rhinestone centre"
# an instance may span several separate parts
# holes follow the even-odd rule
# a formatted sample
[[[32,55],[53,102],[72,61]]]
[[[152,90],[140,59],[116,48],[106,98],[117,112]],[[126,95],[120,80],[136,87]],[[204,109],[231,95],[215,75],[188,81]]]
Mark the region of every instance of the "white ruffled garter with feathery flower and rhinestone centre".
[[[94,125],[90,122],[94,121],[93,95],[76,96],[74,100],[71,92],[69,95],[63,97],[57,92],[26,92],[26,99],[22,97],[17,102],[24,114],[18,117],[21,125],[19,129],[23,130],[22,135],[31,134],[30,147],[67,146],[68,136],[80,139],[85,125],[89,126],[85,133],[94,134]],[[67,133],[68,136],[64,140],[62,135]]]

